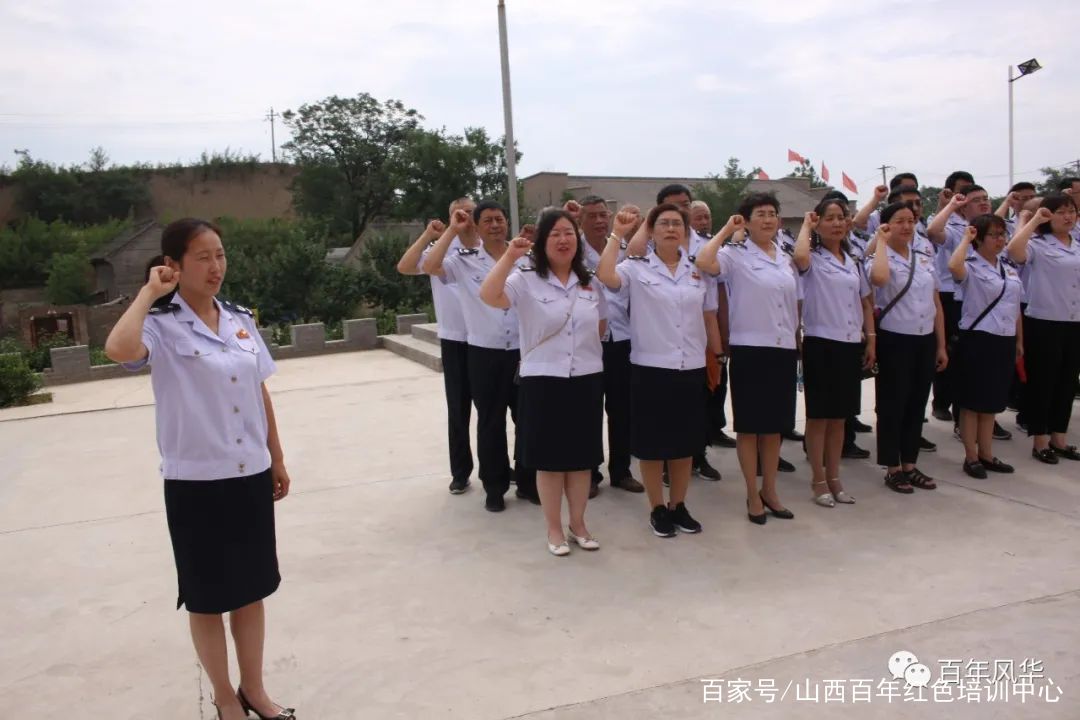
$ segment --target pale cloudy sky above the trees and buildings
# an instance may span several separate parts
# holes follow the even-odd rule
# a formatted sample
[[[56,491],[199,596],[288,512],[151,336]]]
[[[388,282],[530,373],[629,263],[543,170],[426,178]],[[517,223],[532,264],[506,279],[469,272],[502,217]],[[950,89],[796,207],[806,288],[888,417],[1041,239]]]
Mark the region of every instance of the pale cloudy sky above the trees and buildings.
[[[1080,160],[1080,2],[507,0],[518,177],[771,177],[791,148],[867,199],[882,164],[1008,189]],[[0,2],[0,163],[271,157],[266,114],[366,92],[502,134],[496,0]],[[276,123],[276,141],[287,130]],[[889,169],[888,174],[897,172]]]

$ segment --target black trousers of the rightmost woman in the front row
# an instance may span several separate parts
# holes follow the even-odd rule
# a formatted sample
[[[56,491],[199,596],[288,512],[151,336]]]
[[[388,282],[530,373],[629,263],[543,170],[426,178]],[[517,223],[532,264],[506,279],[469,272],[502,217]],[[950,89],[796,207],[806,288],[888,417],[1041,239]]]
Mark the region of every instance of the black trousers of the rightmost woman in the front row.
[[[1026,317],[1024,365],[1027,434],[1067,432],[1080,372],[1080,323]]]

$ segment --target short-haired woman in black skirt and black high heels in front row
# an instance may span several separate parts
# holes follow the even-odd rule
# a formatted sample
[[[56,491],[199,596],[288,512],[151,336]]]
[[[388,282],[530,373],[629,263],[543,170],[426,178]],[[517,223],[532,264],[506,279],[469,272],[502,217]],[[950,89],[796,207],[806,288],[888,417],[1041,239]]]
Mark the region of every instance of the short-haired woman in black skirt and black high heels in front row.
[[[744,227],[750,235],[746,242],[727,242]],[[791,257],[773,241],[779,228],[775,195],[752,193],[743,199],[739,215],[705,244],[697,259],[699,268],[718,274],[728,289],[728,372],[735,447],[746,483],[747,515],[757,525],[765,524],[766,510],[774,517],[795,517],[777,493],[781,435],[795,427],[798,366],[796,271]]]

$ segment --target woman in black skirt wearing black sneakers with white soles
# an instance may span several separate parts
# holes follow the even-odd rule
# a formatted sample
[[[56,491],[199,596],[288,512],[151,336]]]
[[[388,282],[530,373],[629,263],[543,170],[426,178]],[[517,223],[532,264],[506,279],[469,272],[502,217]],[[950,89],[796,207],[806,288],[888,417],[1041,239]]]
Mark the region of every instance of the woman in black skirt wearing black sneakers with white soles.
[[[692,457],[705,445],[705,348],[719,353],[719,334],[706,334],[705,315],[715,315],[708,311],[708,281],[681,249],[689,214],[671,203],[653,207],[646,219],[653,249],[617,263],[622,236],[634,221],[630,214],[616,216],[596,277],[630,293],[631,451],[640,462],[652,532],[671,538],[676,529],[701,532],[687,511],[686,493]],[[661,484],[665,460],[669,503]]]

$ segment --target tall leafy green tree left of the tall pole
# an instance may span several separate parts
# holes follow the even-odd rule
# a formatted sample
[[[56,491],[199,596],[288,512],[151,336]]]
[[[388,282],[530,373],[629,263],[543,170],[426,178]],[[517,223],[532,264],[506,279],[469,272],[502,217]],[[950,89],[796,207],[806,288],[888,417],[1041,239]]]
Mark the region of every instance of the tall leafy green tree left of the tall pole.
[[[391,208],[421,116],[399,100],[380,103],[361,93],[301,105],[282,118],[293,133],[282,148],[300,166],[294,187],[297,209],[359,237],[372,219]],[[318,196],[328,185],[339,188],[330,204]]]

